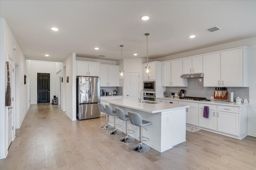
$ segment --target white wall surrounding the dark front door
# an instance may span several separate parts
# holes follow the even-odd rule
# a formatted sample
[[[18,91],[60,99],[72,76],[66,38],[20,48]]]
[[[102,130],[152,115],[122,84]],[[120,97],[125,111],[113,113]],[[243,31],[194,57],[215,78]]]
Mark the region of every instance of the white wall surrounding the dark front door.
[[[31,104],[37,104],[37,73],[50,73],[50,99],[58,96],[56,93],[56,62],[48,61],[27,61],[30,62],[30,101]],[[62,63],[58,63],[62,65]],[[60,66],[59,66],[60,68]]]

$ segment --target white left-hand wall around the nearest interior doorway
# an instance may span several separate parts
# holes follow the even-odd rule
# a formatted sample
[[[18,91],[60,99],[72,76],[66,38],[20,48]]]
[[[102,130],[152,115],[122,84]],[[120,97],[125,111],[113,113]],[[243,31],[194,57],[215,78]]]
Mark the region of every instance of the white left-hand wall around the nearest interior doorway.
[[[16,50],[13,50],[13,45],[16,45]],[[18,123],[22,123],[27,111],[28,111],[28,100],[27,96],[27,86],[28,84],[24,84],[24,74],[26,74],[26,59],[20,50],[20,47],[14,38],[6,20],[0,18],[0,159],[6,158],[8,154],[7,147],[7,115],[8,115],[8,107],[5,106],[5,89],[7,84],[6,78],[6,61],[8,60],[8,55],[10,55],[14,59],[14,63],[18,64]],[[14,65],[15,67],[15,65]],[[28,75],[28,74],[26,74]],[[21,84],[22,82],[22,84]],[[15,126],[15,125],[14,125]],[[16,128],[20,128],[20,125]]]

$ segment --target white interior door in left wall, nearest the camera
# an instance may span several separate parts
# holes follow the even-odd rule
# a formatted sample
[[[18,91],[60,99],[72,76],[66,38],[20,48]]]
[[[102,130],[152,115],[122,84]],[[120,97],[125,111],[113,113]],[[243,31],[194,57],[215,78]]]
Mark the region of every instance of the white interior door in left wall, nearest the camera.
[[[13,138],[13,123],[14,123],[14,120],[13,120],[13,113],[14,113],[14,86],[13,86],[13,60],[12,58],[9,56],[8,57],[8,62],[9,62],[9,74],[10,74],[10,87],[11,87],[11,99],[12,99],[12,102],[11,102],[11,106],[8,106],[8,141],[7,141],[7,144],[8,144],[8,147],[10,146],[11,142],[12,142],[12,138]],[[7,75],[7,70],[6,70],[6,75]]]

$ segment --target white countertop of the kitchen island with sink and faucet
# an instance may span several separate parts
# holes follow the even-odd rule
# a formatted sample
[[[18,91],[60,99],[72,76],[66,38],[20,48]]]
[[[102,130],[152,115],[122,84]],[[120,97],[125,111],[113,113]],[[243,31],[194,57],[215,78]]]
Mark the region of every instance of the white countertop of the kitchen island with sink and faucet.
[[[146,100],[148,101],[148,100]],[[163,102],[154,102],[155,104],[140,103],[138,99],[125,98],[125,99],[111,99],[104,100],[110,104],[128,107],[131,109],[136,109],[140,111],[146,111],[148,113],[159,113],[163,111],[172,111],[176,109],[183,109],[189,106],[179,105],[179,104],[167,104]],[[151,102],[151,101],[148,101]]]

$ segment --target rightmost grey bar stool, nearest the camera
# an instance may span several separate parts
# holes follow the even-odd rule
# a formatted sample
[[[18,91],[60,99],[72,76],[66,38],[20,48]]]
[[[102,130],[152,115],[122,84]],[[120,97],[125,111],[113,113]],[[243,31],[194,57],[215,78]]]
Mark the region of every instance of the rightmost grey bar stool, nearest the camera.
[[[150,147],[148,145],[146,145],[146,144],[142,145],[142,141],[149,141],[149,139],[146,138],[146,137],[143,137],[143,138],[146,138],[147,140],[142,140],[142,127],[152,125],[152,122],[142,120],[141,115],[139,115],[138,113],[132,112],[132,111],[128,111],[128,116],[129,116],[130,122],[133,125],[140,127],[140,143],[136,144],[136,145],[133,145],[132,149],[134,151],[137,151],[137,152],[148,152],[148,151],[150,151]]]

